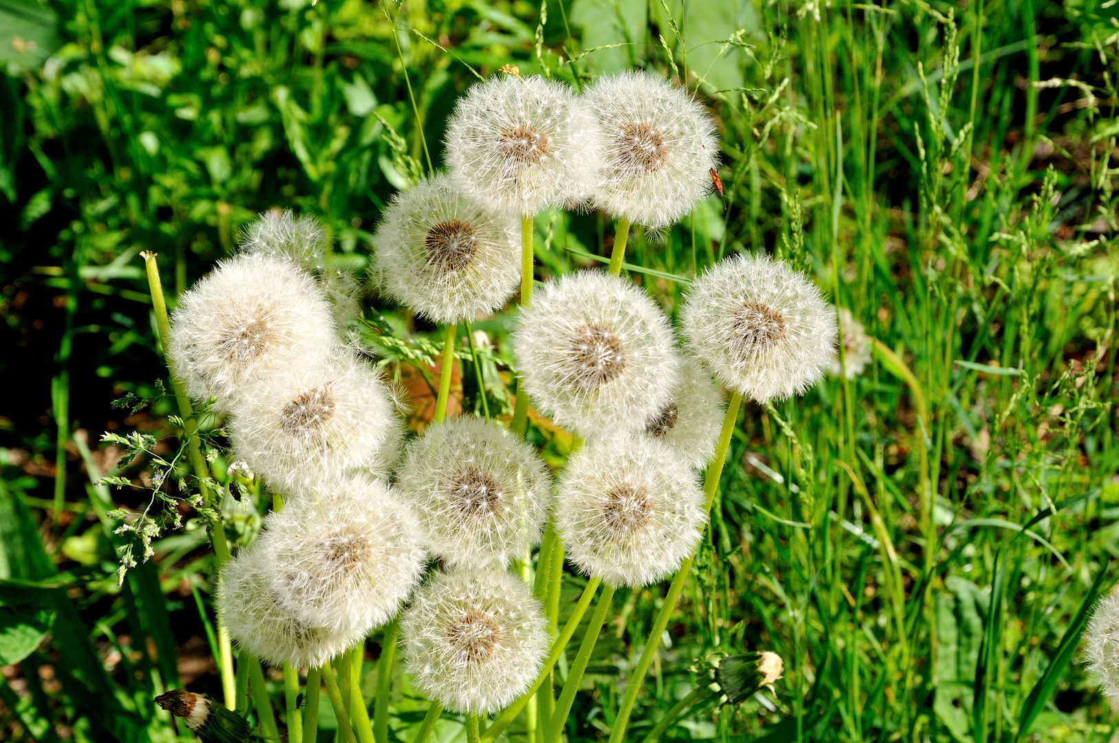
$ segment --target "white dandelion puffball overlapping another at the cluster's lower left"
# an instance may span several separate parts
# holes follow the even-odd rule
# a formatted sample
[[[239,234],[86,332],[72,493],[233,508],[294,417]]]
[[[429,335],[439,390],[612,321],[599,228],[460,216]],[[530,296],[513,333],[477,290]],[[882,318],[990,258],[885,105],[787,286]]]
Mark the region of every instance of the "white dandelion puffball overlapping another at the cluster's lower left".
[[[330,631],[368,633],[387,622],[426,564],[412,508],[363,477],[292,498],[257,540],[281,608]]]

